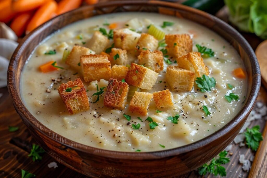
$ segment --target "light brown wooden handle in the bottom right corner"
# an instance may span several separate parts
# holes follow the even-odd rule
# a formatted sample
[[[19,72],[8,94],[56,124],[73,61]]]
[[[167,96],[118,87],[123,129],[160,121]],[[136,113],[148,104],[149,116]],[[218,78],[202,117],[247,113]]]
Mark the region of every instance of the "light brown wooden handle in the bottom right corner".
[[[267,177],[267,122],[262,132],[263,140],[256,152],[248,178],[266,178]]]

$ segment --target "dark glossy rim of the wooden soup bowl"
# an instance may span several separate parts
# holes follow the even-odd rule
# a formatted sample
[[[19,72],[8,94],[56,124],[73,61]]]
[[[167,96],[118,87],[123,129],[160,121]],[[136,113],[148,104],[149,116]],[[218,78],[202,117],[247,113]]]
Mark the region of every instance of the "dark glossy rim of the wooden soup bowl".
[[[108,7],[117,5],[120,6],[121,4],[125,5],[153,5],[153,6],[160,6],[160,7],[170,7],[174,9],[189,11],[192,13],[197,13],[205,17],[212,18],[214,22],[221,26],[221,28],[225,29],[227,32],[234,32],[235,36],[233,38],[236,39],[236,41],[239,42],[239,44],[242,46],[242,48],[245,49],[246,53],[248,54],[250,58],[250,64],[252,65],[252,88],[250,90],[249,96],[247,97],[243,108],[240,110],[240,112],[225,126],[223,126],[221,129],[219,129],[217,132],[198,140],[194,143],[184,145],[182,147],[178,148],[172,148],[172,149],[166,149],[163,151],[153,151],[153,152],[120,152],[120,151],[110,151],[100,148],[94,148],[90,147],[84,144],[77,143],[75,141],[69,140],[63,136],[58,135],[57,133],[53,132],[49,128],[45,127],[41,122],[39,122],[25,107],[25,105],[22,102],[22,99],[20,97],[20,93],[17,90],[17,82],[15,81],[15,77],[17,75],[16,71],[18,68],[18,64],[20,62],[20,56],[22,55],[23,49],[30,43],[31,36],[36,35],[37,31],[45,30],[46,27],[53,24],[54,19],[58,18],[55,17],[48,22],[45,22],[41,26],[39,26],[37,29],[32,31],[30,34],[26,35],[22,41],[19,43],[17,49],[15,50],[9,64],[8,74],[7,74],[7,86],[9,90],[9,94],[11,98],[13,99],[14,107],[17,110],[18,114],[26,118],[29,121],[29,124],[36,128],[39,132],[42,134],[50,137],[54,141],[57,141],[60,144],[63,144],[67,147],[73,148],[74,150],[79,150],[82,152],[92,153],[94,155],[104,156],[104,157],[113,157],[113,158],[119,158],[119,159],[134,159],[134,160],[147,160],[147,159],[159,159],[163,157],[169,157],[169,156],[175,156],[181,153],[193,151],[197,148],[205,147],[208,143],[218,139],[219,137],[225,135],[227,132],[229,132],[231,129],[233,129],[235,126],[238,125],[239,122],[241,122],[243,119],[246,119],[246,116],[250,113],[252,110],[259,90],[260,90],[260,84],[261,84],[261,76],[260,76],[260,68],[258,65],[257,58],[255,56],[255,53],[249,43],[246,41],[246,39],[233,27],[228,25],[227,23],[223,22],[222,20],[218,19],[217,17],[214,17],[213,15],[207,14],[203,11],[193,9],[188,6],[184,6],[178,3],[171,3],[171,2],[162,2],[162,1],[142,1],[142,0],[136,0],[136,1],[111,1],[111,2],[105,2],[105,3],[98,3],[96,5],[92,6],[83,6],[78,9],[75,9],[73,11],[82,11],[82,10],[92,10],[92,7],[96,8],[102,8],[102,7]],[[68,14],[69,12],[65,13]],[[33,122],[34,121],[34,122]],[[37,123],[37,124],[36,124]],[[41,126],[41,129],[40,129]],[[52,135],[57,135],[58,137],[61,137],[61,139],[54,138]],[[64,142],[62,142],[62,140]]]

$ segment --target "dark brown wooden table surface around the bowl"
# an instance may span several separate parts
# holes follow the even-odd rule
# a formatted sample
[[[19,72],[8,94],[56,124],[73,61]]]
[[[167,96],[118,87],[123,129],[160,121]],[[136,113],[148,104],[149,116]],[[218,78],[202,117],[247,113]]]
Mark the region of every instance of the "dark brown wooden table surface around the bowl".
[[[224,15],[223,15],[224,14]],[[222,19],[227,19],[225,12],[221,12],[218,16]],[[243,33],[244,37],[249,41],[252,48],[255,50],[261,40],[253,34]],[[64,165],[57,163],[58,168],[48,168],[50,162],[55,161],[47,153],[42,155],[41,161],[32,161],[28,157],[32,143],[36,143],[30,135],[28,129],[23,124],[19,115],[13,107],[12,100],[8,95],[7,87],[0,88],[0,177],[21,177],[21,169],[35,174],[37,177],[86,177],[77,173]],[[260,95],[257,101],[267,104],[267,92],[262,86]],[[253,121],[252,125],[260,125],[261,131],[265,125],[265,120]],[[19,126],[16,132],[9,132],[8,126]],[[233,144],[230,156],[230,163],[226,164],[227,177],[247,177],[248,172],[242,170],[242,165],[239,163],[239,154],[244,154],[246,159],[255,153],[251,153],[247,147],[239,147]],[[229,155],[228,155],[229,156]],[[56,162],[56,161],[55,161]],[[192,171],[179,178],[197,178],[201,177],[197,171]],[[213,177],[208,175],[206,177]]]

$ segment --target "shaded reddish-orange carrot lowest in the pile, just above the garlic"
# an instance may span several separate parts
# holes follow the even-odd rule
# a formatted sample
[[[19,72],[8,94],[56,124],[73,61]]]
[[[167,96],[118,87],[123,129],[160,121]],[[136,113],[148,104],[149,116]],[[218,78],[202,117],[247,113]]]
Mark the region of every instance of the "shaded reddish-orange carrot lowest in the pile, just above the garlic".
[[[17,15],[10,24],[10,28],[16,33],[18,37],[21,37],[25,32],[33,12],[24,12]]]

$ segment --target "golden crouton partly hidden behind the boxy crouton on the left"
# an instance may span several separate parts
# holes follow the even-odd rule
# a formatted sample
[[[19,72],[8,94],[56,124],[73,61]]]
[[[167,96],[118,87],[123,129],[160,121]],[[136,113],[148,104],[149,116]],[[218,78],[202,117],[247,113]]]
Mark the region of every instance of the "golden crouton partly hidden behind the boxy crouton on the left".
[[[80,70],[78,64],[80,63],[81,56],[89,54],[95,54],[95,52],[89,48],[75,45],[66,59],[66,64],[70,65],[73,69]]]

